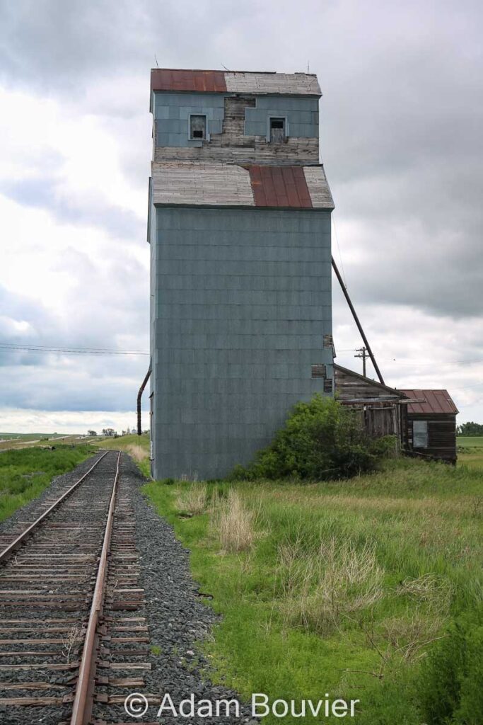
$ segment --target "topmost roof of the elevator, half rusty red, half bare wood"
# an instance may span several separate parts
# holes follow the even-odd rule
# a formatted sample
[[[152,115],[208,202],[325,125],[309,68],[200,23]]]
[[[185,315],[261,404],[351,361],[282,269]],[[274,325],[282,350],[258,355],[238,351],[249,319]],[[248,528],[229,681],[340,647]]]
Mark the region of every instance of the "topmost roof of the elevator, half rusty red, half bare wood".
[[[322,96],[314,73],[224,72],[182,68],[152,68],[152,91]]]

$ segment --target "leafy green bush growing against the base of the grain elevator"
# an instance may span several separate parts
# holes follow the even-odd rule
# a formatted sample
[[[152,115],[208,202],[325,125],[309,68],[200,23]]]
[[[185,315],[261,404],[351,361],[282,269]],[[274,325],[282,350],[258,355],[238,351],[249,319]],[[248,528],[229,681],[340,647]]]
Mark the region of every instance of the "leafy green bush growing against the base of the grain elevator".
[[[393,446],[393,444],[392,444]],[[372,442],[358,414],[337,400],[316,394],[293,407],[285,428],[232,479],[340,479],[373,471],[387,444]]]

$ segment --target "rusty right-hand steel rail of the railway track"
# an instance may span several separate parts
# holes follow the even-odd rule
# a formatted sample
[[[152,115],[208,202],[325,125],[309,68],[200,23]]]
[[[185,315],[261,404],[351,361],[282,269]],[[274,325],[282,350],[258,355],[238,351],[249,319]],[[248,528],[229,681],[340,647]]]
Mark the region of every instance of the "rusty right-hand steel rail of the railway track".
[[[104,608],[104,595],[107,579],[107,558],[111,545],[112,523],[114,521],[114,507],[116,505],[117,484],[119,482],[121,453],[117,455],[116,476],[112,486],[111,502],[107,513],[106,529],[104,531],[104,542],[102,544],[101,556],[96,577],[96,587],[92,598],[91,613],[83,646],[82,658],[80,659],[77,687],[75,689],[74,704],[72,705],[72,716],[70,725],[88,725],[91,720],[94,686],[96,678],[96,645],[98,643],[97,626]]]

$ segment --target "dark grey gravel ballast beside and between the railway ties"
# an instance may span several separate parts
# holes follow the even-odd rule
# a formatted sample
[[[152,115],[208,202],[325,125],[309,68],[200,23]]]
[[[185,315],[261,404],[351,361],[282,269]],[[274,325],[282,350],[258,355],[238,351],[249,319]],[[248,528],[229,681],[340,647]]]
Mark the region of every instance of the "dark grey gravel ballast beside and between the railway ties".
[[[25,523],[20,522],[33,521],[43,510],[48,508],[54,498],[59,497],[83,473],[88,471],[97,457],[98,455],[85,460],[74,471],[54,479],[38,499],[17,510],[12,517],[2,523],[0,531],[17,531],[24,528]],[[111,457],[112,455],[108,456],[108,459]],[[104,466],[101,465],[101,468],[104,468]],[[93,476],[95,475],[96,473],[93,473]],[[104,479],[101,471],[98,471],[98,475]],[[115,669],[98,669],[98,675],[108,676],[109,679],[142,677],[146,686],[139,688],[139,692],[161,699],[165,695],[169,695],[175,708],[179,708],[182,700],[188,700],[193,696],[195,703],[199,703],[200,700],[213,703],[215,713],[216,703],[219,700],[236,700],[240,703],[239,716],[235,716],[232,706],[228,716],[223,711],[220,716],[215,714],[203,717],[196,714],[194,717],[174,716],[174,714],[165,710],[162,716],[158,717],[158,700],[158,702],[149,705],[143,716],[131,717],[125,711],[123,700],[136,689],[106,685],[106,687],[96,688],[96,692],[101,695],[105,693],[108,697],[115,696],[118,698],[118,702],[116,704],[97,702],[94,706],[93,717],[108,724],[127,722],[162,722],[165,725],[179,725],[180,722],[190,722],[196,725],[203,723],[208,725],[221,725],[223,723],[256,724],[256,719],[253,719],[251,715],[251,708],[241,703],[237,693],[224,687],[215,686],[206,675],[209,663],[203,657],[198,643],[210,636],[211,628],[219,621],[219,618],[199,598],[198,587],[190,573],[189,551],[175,538],[172,526],[156,513],[146,497],[141,493],[140,489],[145,483],[146,479],[143,478],[133,460],[126,454],[122,454],[119,497],[124,502],[129,502],[133,521],[135,521],[135,546],[138,550],[140,565],[139,584],[136,586],[144,589],[144,602],[140,608],[133,611],[110,611],[109,604],[107,604],[104,614],[107,620],[109,618],[114,620],[119,617],[146,618],[146,622],[143,624],[148,626],[147,636],[149,642],[142,645],[125,643],[116,643],[116,645],[113,644],[112,646],[106,645],[109,650],[106,650],[107,654],[102,655],[104,665],[106,663],[109,665],[109,662],[117,663],[117,665]],[[93,491],[96,490],[96,487],[92,486],[92,482],[88,487]],[[95,494],[93,495],[95,496]],[[80,513],[78,520],[90,521],[88,508]],[[66,613],[66,616],[69,616],[69,614]],[[35,612],[34,616],[41,617],[41,611]],[[114,622],[114,624],[116,623]],[[126,623],[123,622],[122,624]],[[139,622],[136,622],[136,624],[139,624]],[[128,636],[133,634],[135,636],[139,633],[126,631],[122,632],[122,634]],[[128,651],[136,648],[138,650],[143,649],[143,654],[136,656],[129,653],[127,655],[122,654],[122,650]],[[21,650],[23,647],[18,647],[18,649]],[[12,658],[10,661],[13,663],[13,661],[20,662],[21,660],[13,660]],[[136,671],[133,668],[123,667],[124,663],[140,662],[150,663],[151,669]],[[46,679],[54,685],[52,690],[49,688],[43,694],[46,696],[58,695],[59,692],[56,692],[55,685],[67,683],[69,676],[67,673],[60,672],[51,672],[49,676],[43,676],[42,679]],[[7,679],[9,679],[8,675]],[[30,674],[30,672],[25,671],[24,682],[35,679],[40,679],[38,674],[35,676],[33,673]],[[10,692],[12,691],[4,692],[0,697],[17,696],[14,692],[12,694]],[[28,692],[19,692],[18,694],[18,696],[25,695],[28,695]],[[30,725],[33,723],[58,725],[61,722],[68,721],[70,713],[70,706],[67,703],[62,707],[9,707],[0,709],[2,710],[1,722],[8,722],[9,725]],[[8,719],[3,720],[4,717]]]

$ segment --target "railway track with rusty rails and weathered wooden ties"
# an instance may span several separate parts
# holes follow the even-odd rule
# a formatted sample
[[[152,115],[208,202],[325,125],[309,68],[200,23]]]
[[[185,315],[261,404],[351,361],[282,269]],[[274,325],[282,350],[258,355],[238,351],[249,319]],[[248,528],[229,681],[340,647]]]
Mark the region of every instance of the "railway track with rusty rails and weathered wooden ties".
[[[35,521],[0,535],[2,723],[119,722],[126,695],[144,687],[148,627],[121,461],[98,455]]]

